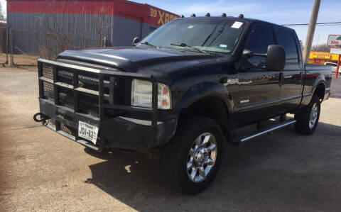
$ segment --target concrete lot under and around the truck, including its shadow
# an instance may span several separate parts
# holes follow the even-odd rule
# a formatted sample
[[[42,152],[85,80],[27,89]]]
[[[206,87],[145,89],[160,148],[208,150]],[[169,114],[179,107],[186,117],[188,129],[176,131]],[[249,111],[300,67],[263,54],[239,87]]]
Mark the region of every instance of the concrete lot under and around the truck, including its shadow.
[[[145,153],[100,155],[33,122],[37,75],[0,67],[0,211],[340,211],[341,99],[322,104],[314,135],[226,145],[215,181],[187,196]]]

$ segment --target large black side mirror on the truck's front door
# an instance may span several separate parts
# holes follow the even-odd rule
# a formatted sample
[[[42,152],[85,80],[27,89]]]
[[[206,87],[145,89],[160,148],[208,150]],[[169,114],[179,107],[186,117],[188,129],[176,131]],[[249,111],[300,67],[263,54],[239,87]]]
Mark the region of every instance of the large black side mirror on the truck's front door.
[[[282,71],[286,65],[286,51],[281,45],[269,45],[266,53],[266,69]]]

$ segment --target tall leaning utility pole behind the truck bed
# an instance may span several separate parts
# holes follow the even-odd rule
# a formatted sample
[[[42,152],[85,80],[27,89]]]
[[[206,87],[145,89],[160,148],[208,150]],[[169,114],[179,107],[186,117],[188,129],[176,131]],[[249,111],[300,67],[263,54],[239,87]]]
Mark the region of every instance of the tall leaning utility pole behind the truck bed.
[[[311,11],[309,28],[307,38],[305,39],[303,62],[309,61],[309,54],[311,50],[311,44],[313,43],[316,21],[318,21],[318,9],[320,9],[321,0],[314,0],[313,11]]]

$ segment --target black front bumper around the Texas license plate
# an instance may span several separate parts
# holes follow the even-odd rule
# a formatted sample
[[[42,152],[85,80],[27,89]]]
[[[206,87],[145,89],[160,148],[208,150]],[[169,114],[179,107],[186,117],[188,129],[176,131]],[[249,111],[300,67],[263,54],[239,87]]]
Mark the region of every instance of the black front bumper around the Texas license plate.
[[[43,125],[98,152],[104,148],[145,150],[162,145],[171,139],[177,125],[177,118],[158,121],[156,130],[154,130],[151,121],[147,120],[117,116],[109,121],[99,121],[98,118],[74,113],[70,108],[56,106],[49,100],[40,99],[39,103],[40,113],[47,118],[46,121],[43,121]],[[79,121],[99,128],[96,145],[78,137]]]

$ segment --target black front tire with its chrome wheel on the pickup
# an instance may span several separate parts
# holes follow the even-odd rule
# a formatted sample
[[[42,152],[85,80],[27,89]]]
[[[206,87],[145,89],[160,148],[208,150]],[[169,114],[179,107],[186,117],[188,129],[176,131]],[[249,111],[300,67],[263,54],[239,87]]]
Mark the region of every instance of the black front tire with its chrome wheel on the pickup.
[[[171,186],[195,194],[210,185],[222,161],[220,125],[204,116],[188,116],[163,146],[161,173]]]

